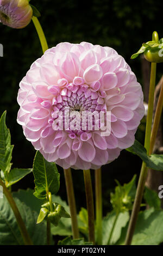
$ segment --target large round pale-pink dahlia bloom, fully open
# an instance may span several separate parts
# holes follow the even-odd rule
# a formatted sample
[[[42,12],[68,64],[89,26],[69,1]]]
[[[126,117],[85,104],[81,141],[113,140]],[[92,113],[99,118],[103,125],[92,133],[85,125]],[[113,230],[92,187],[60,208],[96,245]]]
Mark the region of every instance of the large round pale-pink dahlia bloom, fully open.
[[[65,169],[97,169],[115,160],[134,143],[145,112],[142,88],[124,58],[88,42],[62,42],[47,50],[20,82],[17,101],[17,122],[28,141],[47,161]],[[66,109],[72,123],[83,111],[97,118],[90,127],[87,118],[78,116],[72,128],[62,115]],[[101,111],[111,119],[105,136]]]

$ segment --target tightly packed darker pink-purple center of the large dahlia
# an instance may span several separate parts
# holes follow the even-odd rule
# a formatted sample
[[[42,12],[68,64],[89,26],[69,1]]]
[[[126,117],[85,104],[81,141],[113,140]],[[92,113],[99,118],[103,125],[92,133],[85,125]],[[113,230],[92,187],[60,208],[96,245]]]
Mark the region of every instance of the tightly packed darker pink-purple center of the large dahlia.
[[[101,111],[106,112],[106,106],[100,91],[69,83],[53,98],[50,123],[54,130],[73,133],[99,130]]]

